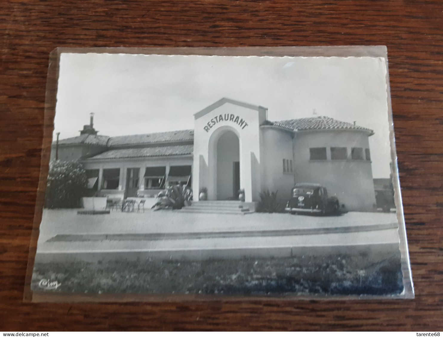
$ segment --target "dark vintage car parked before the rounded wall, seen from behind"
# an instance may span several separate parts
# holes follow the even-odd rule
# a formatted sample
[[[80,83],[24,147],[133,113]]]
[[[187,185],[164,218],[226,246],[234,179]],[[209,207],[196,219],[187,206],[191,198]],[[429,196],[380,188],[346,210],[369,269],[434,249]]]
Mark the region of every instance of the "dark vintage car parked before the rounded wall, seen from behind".
[[[344,205],[342,205],[344,209]],[[340,203],[335,196],[328,196],[326,188],[320,184],[298,183],[291,191],[285,210],[291,214],[317,213],[339,214]]]

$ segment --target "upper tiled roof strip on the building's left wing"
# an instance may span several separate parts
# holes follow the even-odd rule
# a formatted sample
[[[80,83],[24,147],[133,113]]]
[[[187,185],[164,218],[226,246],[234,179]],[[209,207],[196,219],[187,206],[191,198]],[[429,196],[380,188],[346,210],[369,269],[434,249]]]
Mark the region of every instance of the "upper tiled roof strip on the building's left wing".
[[[153,134],[134,134],[131,136],[117,136],[109,139],[109,147],[141,145],[163,142],[191,141],[194,139],[194,130],[179,130],[156,132]]]

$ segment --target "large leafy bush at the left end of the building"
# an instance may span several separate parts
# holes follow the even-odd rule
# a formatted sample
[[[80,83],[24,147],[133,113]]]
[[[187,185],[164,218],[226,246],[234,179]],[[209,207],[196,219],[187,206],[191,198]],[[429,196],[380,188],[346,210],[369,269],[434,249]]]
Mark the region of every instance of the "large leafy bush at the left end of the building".
[[[88,179],[77,161],[54,161],[49,166],[45,207],[77,208],[86,195]]]

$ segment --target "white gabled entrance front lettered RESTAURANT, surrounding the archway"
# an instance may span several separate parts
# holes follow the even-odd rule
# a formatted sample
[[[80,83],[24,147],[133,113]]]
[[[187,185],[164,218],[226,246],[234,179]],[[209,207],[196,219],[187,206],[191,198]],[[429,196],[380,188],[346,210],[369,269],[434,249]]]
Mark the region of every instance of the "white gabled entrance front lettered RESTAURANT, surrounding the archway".
[[[223,151],[218,145],[223,141],[223,136],[229,133],[232,138],[238,138],[238,149],[233,148],[232,153],[238,152],[240,188],[245,190],[245,201],[259,200],[262,157],[260,125],[266,120],[266,111],[264,107],[222,99],[194,115],[193,176],[198,179],[193,180],[193,191],[207,188],[208,199],[217,200],[220,195],[218,189],[223,184],[217,183],[220,181],[218,177],[231,176],[225,170],[229,171],[230,166],[233,172],[233,162],[236,161],[220,163],[226,159],[235,159],[227,153],[226,158],[218,155],[218,149]],[[229,188],[233,187],[234,182],[227,180],[224,184]]]

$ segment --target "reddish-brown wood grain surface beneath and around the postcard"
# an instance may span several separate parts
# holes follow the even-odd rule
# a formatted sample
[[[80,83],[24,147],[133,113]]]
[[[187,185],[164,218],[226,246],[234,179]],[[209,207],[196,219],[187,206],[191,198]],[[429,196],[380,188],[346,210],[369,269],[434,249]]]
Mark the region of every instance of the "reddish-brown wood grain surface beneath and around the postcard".
[[[0,330],[441,330],[442,31],[438,0],[2,1]],[[23,303],[51,50],[330,45],[388,47],[416,299]]]

